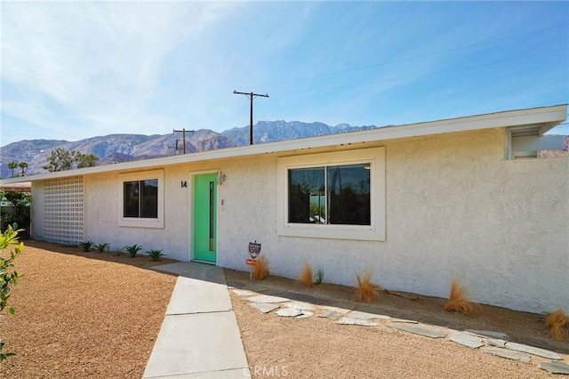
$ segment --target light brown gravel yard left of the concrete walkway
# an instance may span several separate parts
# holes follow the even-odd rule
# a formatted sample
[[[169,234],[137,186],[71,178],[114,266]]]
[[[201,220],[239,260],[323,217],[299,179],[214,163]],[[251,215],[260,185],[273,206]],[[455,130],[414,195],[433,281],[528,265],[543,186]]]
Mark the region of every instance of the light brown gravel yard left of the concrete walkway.
[[[83,253],[24,241],[23,274],[4,309],[5,378],[140,378],[176,277],[148,270],[148,256]],[[5,252],[4,252],[5,253]]]

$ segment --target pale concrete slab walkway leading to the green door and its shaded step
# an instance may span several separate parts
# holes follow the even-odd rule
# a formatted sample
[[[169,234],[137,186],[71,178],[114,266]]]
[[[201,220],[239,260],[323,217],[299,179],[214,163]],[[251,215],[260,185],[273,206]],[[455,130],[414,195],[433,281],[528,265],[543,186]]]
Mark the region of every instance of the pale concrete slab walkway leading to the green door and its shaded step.
[[[250,378],[223,270],[194,262],[153,269],[179,277],[143,378]]]

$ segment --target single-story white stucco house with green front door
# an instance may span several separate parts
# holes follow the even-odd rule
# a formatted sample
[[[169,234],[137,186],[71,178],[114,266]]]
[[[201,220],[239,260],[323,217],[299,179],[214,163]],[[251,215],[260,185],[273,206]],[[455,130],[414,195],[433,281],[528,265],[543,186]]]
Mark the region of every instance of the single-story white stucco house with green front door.
[[[539,158],[567,105],[278,141],[6,180],[32,182],[33,238],[163,249],[325,282],[514,310],[569,306],[569,157]],[[555,143],[553,143],[555,145]]]

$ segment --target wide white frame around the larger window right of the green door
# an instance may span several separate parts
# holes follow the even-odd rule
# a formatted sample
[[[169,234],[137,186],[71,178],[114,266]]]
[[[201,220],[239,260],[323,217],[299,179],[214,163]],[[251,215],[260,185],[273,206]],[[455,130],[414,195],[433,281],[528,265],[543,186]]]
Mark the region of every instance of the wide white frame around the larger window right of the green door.
[[[336,225],[288,222],[288,171],[323,165],[370,164],[371,225]],[[294,157],[276,161],[276,231],[279,236],[385,241],[385,148],[355,149]]]

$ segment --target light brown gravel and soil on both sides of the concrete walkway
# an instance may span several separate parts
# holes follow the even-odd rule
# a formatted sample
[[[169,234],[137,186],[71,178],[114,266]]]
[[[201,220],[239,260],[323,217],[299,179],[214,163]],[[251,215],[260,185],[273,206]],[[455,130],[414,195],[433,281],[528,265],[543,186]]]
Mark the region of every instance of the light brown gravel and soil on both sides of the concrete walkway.
[[[25,241],[16,269],[24,276],[0,318],[7,351],[5,378],[141,377],[164,319],[176,277],[148,270],[149,258],[83,253],[80,248]],[[394,294],[367,304],[353,288],[323,284],[307,289],[276,277],[250,282],[249,274],[225,270],[229,284],[262,286],[265,293],[310,294],[358,310],[457,328],[494,330],[516,341],[564,352],[569,342],[548,335],[544,317],[483,306],[475,318],[446,313],[443,299],[408,300]],[[530,364],[472,351],[445,340],[381,327],[340,326],[330,319],[284,319],[262,314],[230,292],[244,348],[255,377],[551,377]],[[533,343],[532,343],[533,342]]]

